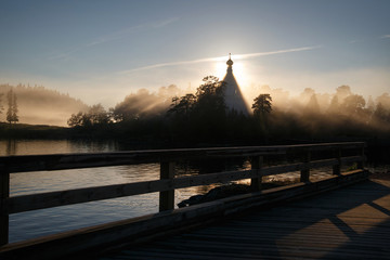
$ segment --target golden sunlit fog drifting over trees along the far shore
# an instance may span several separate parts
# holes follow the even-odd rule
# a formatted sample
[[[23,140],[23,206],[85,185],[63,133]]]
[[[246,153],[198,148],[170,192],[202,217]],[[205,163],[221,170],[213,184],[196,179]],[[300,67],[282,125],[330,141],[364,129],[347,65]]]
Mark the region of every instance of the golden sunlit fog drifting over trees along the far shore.
[[[9,84],[0,86],[1,105],[0,120],[5,121],[6,93]],[[390,130],[390,95],[362,96],[350,86],[336,87],[332,93],[316,92],[311,88],[302,88],[300,93],[292,95],[289,91],[270,86],[252,84],[245,88],[245,96],[251,106],[259,94],[270,94],[272,112],[268,115],[268,123],[272,131],[288,132],[290,129],[301,128],[310,136],[348,135],[348,132],[369,132],[372,130]],[[70,115],[91,109],[82,101],[48,90],[43,87],[16,86],[13,91],[17,96],[18,122],[34,125],[67,126]],[[114,107],[106,112],[113,115],[113,120],[123,121],[132,119],[147,119],[156,116],[164,117],[172,105],[174,96],[188,93],[171,84],[160,87],[152,92],[140,89],[129,93]]]

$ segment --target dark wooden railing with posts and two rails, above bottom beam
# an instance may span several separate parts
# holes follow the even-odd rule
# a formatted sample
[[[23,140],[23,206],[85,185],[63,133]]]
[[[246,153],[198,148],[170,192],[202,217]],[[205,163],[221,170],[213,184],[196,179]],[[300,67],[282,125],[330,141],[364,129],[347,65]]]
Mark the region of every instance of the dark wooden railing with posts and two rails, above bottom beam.
[[[155,150],[99,154],[3,156],[0,157],[0,246],[9,243],[9,214],[12,213],[153,192],[159,192],[159,210],[170,210],[174,207],[176,188],[251,179],[252,190],[259,191],[261,190],[262,177],[271,174],[300,171],[301,182],[309,182],[310,170],[313,168],[333,167],[334,174],[340,174],[341,165],[346,162],[358,162],[358,168],[363,168],[365,160],[364,146],[365,144],[362,142],[353,142],[309,145]],[[327,152],[330,156],[317,160],[312,156],[324,152]],[[344,154],[348,156],[343,156]],[[264,167],[263,156],[266,155],[292,155],[301,158],[301,161]],[[174,162],[179,159],[202,159],[206,157],[250,157],[251,169],[191,177],[174,177]],[[160,180],[10,197],[11,173],[136,165],[144,162],[160,164]]]

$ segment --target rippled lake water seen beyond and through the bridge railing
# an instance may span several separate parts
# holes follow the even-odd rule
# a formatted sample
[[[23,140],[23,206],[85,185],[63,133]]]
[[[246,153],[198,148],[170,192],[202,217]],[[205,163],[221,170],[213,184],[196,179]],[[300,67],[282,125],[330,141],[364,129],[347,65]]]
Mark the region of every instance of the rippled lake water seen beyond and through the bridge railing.
[[[0,156],[91,153],[129,150],[117,142],[76,141],[0,141]],[[249,161],[231,164],[224,170],[248,169]],[[198,174],[202,169],[178,165],[177,174]],[[318,170],[316,177],[328,176],[327,170]],[[282,178],[298,178],[299,172]],[[272,179],[274,177],[270,177]],[[11,196],[61,191],[78,187],[99,186],[139,181],[158,180],[159,164],[117,166],[63,171],[37,171],[11,174]],[[248,182],[244,180],[242,182]],[[218,184],[216,184],[218,185]],[[176,205],[195,194],[205,194],[216,185],[180,188],[176,191]],[[10,216],[10,242],[35,238],[94,224],[139,217],[158,211],[158,193],[100,200],[80,205],[34,210]]]

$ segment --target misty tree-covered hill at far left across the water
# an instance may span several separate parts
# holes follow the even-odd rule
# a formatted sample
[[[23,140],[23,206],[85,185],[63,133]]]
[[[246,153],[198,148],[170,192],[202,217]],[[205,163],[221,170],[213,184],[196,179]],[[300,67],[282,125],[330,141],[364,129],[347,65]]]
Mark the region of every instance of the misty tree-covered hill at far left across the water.
[[[3,94],[0,101],[3,107],[0,121],[5,121],[6,93],[11,88],[17,98],[21,123],[67,126],[66,121],[72,114],[88,110],[88,105],[82,101],[44,87],[0,84],[0,94]]]

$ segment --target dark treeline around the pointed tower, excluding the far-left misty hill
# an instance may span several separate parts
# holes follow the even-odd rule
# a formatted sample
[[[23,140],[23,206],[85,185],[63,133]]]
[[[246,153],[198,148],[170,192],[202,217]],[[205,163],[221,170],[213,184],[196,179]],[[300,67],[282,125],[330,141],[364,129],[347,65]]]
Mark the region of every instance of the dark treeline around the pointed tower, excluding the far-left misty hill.
[[[390,96],[367,101],[348,86],[335,94],[306,89],[300,96],[261,87],[253,114],[230,110],[224,82],[209,76],[196,93],[176,87],[140,90],[108,110],[102,105],[73,114],[68,125],[80,136],[119,138],[164,146],[256,145],[315,141],[390,139]]]

